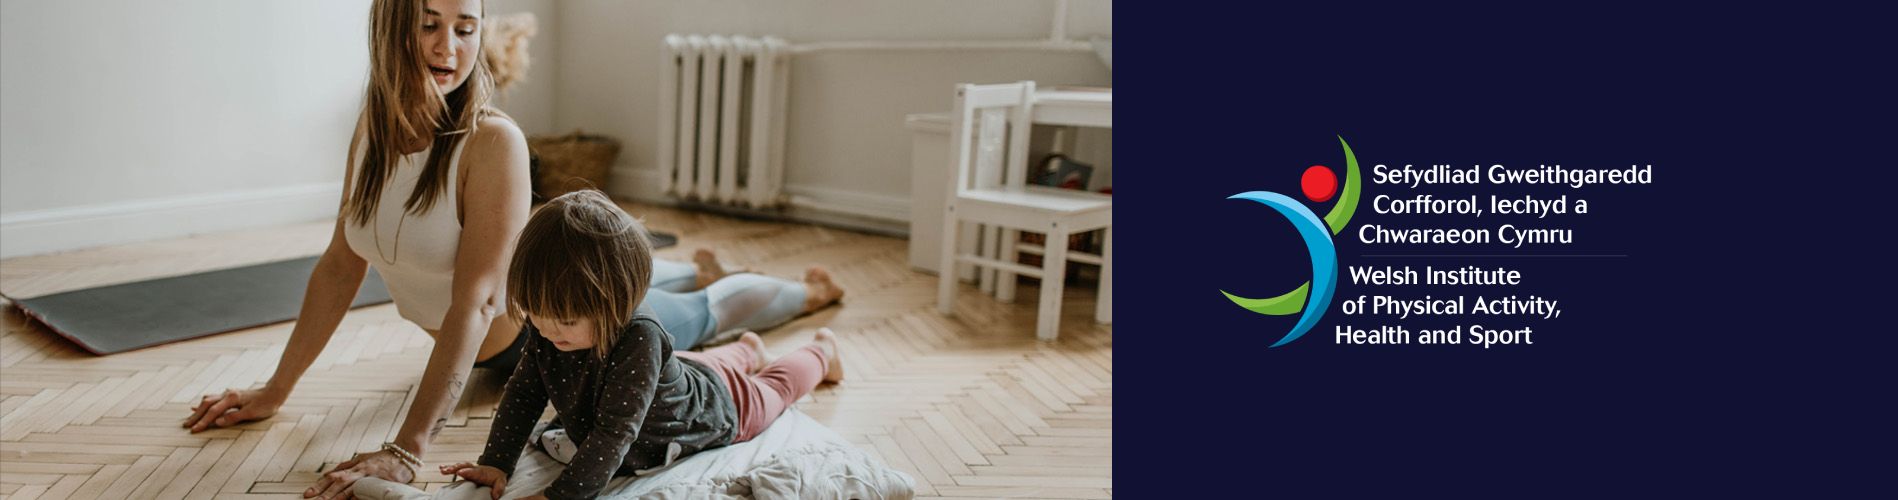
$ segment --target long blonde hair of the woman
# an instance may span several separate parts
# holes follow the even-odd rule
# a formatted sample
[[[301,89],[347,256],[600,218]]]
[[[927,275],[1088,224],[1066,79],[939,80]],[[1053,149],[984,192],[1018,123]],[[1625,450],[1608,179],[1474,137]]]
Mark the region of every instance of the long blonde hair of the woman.
[[[408,213],[427,213],[435,200],[448,194],[448,160],[459,141],[474,135],[476,124],[488,114],[493,97],[493,76],[480,49],[486,29],[476,29],[474,70],[461,87],[438,95],[425,74],[427,57],[421,42],[421,0],[376,0],[368,17],[368,89],[363,97],[364,152],[355,186],[344,211],[355,224],[368,224],[381,202],[381,188],[395,175],[400,148],[416,137],[433,137],[429,160],[423,163],[416,190],[402,207]],[[488,11],[482,2],[482,13]],[[355,152],[351,152],[355,154]],[[452,194],[450,194],[452,196]]]

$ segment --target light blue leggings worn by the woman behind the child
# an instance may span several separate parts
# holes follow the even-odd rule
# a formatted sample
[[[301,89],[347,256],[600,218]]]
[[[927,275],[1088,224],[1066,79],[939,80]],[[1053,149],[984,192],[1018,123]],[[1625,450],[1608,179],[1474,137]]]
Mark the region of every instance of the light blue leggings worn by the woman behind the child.
[[[805,283],[763,274],[731,274],[704,289],[698,268],[653,259],[645,304],[672,335],[674,350],[691,350],[727,331],[757,331],[791,321],[805,310]]]

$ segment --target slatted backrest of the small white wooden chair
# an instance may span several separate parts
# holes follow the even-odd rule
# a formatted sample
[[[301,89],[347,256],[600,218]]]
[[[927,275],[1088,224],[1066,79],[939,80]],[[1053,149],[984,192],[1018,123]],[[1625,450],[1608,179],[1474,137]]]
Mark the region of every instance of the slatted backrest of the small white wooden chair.
[[[1029,124],[1034,82],[955,89],[949,116],[949,196],[981,188],[1021,188],[1029,165]]]

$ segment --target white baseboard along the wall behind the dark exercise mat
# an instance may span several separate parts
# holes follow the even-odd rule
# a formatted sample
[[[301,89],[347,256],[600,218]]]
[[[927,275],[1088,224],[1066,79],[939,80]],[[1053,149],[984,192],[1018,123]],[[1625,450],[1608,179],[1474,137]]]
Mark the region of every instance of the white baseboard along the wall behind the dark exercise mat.
[[[342,183],[0,215],[0,259],[336,217]]]

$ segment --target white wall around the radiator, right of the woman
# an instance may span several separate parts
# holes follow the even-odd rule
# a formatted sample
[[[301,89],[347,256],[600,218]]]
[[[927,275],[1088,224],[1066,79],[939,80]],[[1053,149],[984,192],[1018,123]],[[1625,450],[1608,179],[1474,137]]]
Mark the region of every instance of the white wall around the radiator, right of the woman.
[[[1046,40],[1055,2],[793,0],[564,2],[556,122],[623,141],[613,194],[659,198],[661,38],[668,32],[774,34],[791,44],[841,40]],[[1112,34],[1112,4],[1074,0],[1069,38]],[[786,190],[831,205],[903,209],[909,133],[903,116],[943,112],[958,82],[1036,80],[1110,86],[1084,51],[820,51],[791,59]],[[886,211],[888,213],[888,211]],[[888,213],[892,221],[903,215]]]

